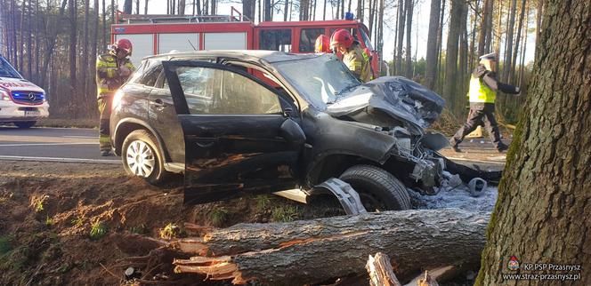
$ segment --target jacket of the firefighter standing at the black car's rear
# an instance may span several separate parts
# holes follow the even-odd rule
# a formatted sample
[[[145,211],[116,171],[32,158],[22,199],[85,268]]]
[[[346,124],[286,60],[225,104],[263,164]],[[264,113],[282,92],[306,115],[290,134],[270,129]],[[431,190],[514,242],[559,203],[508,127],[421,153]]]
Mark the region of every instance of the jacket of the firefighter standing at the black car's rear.
[[[127,81],[131,75],[120,75],[119,67],[129,68],[132,73],[135,70],[129,58],[117,60],[117,56],[112,53],[104,53],[99,55],[96,59],[96,96],[102,98],[104,96],[113,95],[117,89]]]

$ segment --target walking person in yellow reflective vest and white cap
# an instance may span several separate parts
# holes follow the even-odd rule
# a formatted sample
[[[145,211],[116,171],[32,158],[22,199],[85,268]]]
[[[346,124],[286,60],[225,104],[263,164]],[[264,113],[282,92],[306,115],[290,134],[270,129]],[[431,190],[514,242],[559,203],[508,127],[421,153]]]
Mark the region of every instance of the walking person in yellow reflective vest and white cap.
[[[468,98],[470,100],[470,113],[464,126],[449,139],[449,144],[456,152],[462,152],[458,145],[466,135],[474,131],[478,125],[486,123],[492,144],[498,152],[505,151],[508,147],[501,141],[498,131],[497,120],[495,119],[495,99],[497,91],[503,91],[510,94],[519,94],[519,87],[497,81],[497,54],[489,53],[481,56],[480,64],[474,68],[472,78],[470,79],[470,90]]]

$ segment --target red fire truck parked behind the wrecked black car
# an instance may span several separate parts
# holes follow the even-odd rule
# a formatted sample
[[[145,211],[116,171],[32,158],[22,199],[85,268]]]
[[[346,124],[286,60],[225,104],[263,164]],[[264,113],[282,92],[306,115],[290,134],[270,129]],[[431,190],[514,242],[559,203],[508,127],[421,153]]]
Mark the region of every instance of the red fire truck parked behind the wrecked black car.
[[[171,51],[274,50],[314,52],[316,38],[339,28],[351,31],[362,48],[371,52],[374,77],[379,75],[379,56],[368,28],[358,20],[271,21],[255,25],[231,8],[230,16],[126,15],[117,13],[111,26],[111,41],[127,38],[134,44],[132,61]],[[366,51],[367,51],[366,50]]]

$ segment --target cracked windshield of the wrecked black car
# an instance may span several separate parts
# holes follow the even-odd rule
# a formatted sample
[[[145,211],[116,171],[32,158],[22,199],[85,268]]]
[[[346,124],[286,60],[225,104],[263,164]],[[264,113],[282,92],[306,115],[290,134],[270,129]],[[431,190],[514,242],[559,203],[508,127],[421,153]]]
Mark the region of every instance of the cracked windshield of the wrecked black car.
[[[333,54],[273,64],[312,106],[323,110],[343,96],[344,91],[360,85],[343,62]]]

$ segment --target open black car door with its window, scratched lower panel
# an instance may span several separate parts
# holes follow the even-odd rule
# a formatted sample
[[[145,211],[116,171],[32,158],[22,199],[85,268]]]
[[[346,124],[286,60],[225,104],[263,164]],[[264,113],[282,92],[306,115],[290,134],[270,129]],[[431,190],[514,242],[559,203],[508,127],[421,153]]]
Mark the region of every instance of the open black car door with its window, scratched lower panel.
[[[185,203],[296,187],[304,131],[279,94],[237,68],[163,62],[185,144]]]

